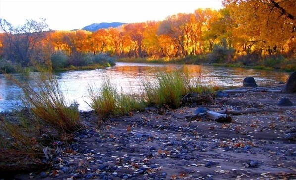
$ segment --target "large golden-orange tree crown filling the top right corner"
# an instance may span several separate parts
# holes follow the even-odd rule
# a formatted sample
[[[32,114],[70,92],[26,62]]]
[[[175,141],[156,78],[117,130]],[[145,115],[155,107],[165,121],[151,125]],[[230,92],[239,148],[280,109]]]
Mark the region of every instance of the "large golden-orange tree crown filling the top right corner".
[[[234,34],[243,37],[243,49],[268,54],[289,51],[285,48],[296,32],[296,0],[224,0],[235,20]]]

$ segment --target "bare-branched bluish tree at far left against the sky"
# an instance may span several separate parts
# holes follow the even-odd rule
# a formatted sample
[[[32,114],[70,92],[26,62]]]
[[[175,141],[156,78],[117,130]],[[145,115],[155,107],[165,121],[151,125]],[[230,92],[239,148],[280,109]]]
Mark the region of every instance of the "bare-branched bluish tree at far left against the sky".
[[[27,20],[26,24],[13,27],[5,19],[0,19],[0,31],[4,33],[2,45],[5,58],[20,63],[23,66],[30,65],[32,59],[39,59],[35,49],[38,41],[44,37],[44,31],[48,30],[45,19]]]

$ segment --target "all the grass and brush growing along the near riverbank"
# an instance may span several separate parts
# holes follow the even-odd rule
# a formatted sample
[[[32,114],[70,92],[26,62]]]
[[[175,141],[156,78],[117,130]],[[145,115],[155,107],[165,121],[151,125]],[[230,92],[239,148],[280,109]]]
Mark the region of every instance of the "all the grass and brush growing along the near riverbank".
[[[23,90],[24,106],[11,112],[13,119],[0,115],[0,169],[7,172],[49,167],[53,157],[73,151],[67,144],[84,128],[78,105],[66,101],[53,73],[37,69],[40,73],[28,75],[30,81],[25,82],[6,75]],[[153,84],[143,81],[145,89],[138,96],[124,94],[108,78],[99,89],[89,87],[88,103],[96,112],[98,125],[110,116],[131,115],[147,106],[176,109],[186,93],[209,92],[186,74],[157,72],[156,77]]]

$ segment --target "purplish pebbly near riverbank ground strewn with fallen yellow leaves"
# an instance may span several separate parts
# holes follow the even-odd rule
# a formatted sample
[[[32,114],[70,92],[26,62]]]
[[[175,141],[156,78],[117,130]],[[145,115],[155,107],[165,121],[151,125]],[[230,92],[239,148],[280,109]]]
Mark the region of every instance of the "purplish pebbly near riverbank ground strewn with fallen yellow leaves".
[[[216,97],[214,103],[177,110],[147,108],[129,116],[110,117],[99,126],[93,111],[81,112],[86,129],[74,133],[69,144],[55,142],[62,153],[54,158],[51,168],[14,172],[13,178],[296,178],[295,141],[285,139],[296,127],[295,94],[281,93],[284,86],[238,89],[244,91]],[[293,106],[278,106],[283,97]],[[200,106],[213,111],[266,111],[230,114],[230,123],[188,118]]]

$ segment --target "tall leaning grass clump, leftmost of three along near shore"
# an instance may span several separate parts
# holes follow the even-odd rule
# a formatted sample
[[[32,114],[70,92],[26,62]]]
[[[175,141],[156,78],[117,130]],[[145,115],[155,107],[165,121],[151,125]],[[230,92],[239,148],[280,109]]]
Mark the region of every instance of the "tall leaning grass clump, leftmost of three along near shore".
[[[24,105],[60,133],[71,133],[82,127],[78,107],[66,101],[52,72],[31,73],[27,81],[7,77],[23,90]]]

